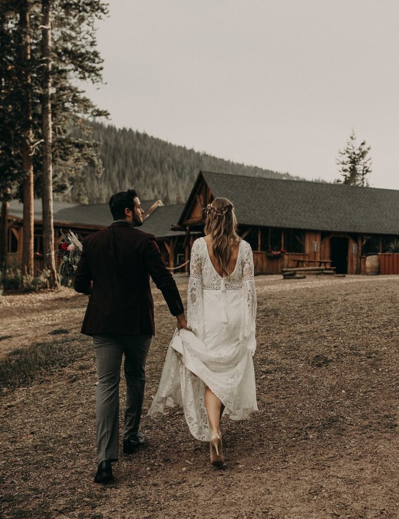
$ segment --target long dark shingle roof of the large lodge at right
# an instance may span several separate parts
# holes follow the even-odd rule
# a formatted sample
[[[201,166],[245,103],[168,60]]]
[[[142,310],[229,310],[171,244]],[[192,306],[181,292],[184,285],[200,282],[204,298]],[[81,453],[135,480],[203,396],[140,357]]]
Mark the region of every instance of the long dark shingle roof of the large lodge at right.
[[[399,235],[399,190],[201,174],[213,197],[234,203],[239,224]]]

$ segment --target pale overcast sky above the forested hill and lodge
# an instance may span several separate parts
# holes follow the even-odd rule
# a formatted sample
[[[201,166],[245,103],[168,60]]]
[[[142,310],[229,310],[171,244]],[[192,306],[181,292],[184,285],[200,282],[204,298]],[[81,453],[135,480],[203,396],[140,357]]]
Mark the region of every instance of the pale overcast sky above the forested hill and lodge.
[[[306,179],[337,178],[352,129],[399,189],[398,0],[110,0],[104,80],[128,127]]]

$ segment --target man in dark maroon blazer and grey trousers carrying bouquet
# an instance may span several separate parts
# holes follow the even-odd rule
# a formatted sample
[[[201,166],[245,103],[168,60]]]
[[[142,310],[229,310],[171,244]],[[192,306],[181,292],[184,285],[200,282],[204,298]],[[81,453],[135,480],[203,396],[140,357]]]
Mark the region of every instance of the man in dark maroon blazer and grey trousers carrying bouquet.
[[[98,383],[95,391],[98,468],[94,481],[112,479],[111,462],[118,460],[119,380],[125,355],[126,411],[124,454],[144,445],[139,431],[144,399],[145,366],[154,335],[154,303],[150,276],[177,318],[187,326],[176,283],[166,269],[155,236],[137,229],[144,211],[134,189],[112,195],[114,222],[84,239],[74,279],[77,292],[89,303],[81,333],[93,337]]]

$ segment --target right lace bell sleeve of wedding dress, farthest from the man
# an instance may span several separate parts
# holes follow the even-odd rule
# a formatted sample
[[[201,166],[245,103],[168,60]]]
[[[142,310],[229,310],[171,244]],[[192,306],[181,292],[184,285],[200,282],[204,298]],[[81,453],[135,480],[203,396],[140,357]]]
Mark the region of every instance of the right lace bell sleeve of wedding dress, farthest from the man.
[[[248,348],[252,354],[255,351],[255,319],[257,317],[257,292],[253,278],[253,254],[249,243],[246,243],[246,250],[243,262],[243,306],[244,306],[244,327],[243,339],[247,340]]]

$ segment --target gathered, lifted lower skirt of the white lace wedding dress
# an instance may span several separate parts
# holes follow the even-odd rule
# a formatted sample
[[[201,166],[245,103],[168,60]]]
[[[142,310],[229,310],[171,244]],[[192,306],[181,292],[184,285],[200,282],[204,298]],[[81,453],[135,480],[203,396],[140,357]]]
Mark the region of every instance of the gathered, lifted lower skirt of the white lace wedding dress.
[[[191,434],[206,442],[209,441],[204,402],[207,386],[224,404],[223,415],[230,415],[232,420],[247,419],[258,411],[250,351],[240,348],[240,352],[231,354],[230,358],[218,357],[192,332],[176,330],[148,414],[154,416],[164,412],[166,407],[182,406]],[[220,363],[230,366],[228,377],[220,377],[219,370],[215,370]]]

